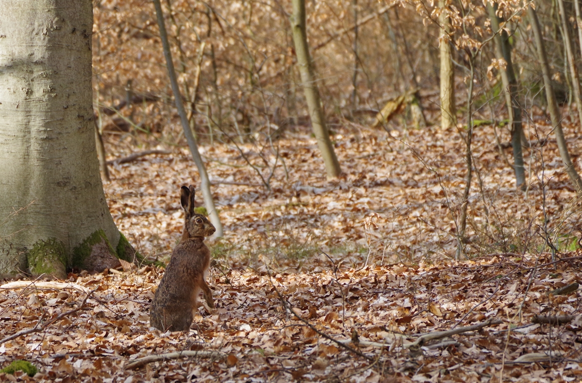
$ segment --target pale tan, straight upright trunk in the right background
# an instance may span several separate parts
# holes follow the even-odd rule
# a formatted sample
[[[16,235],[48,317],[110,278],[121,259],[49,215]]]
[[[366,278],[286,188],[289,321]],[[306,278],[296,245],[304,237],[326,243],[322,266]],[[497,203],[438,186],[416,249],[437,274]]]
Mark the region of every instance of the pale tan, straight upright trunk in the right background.
[[[446,0],[439,0],[439,8],[446,7]],[[450,56],[450,22],[446,12],[439,15],[439,52],[441,56],[441,127],[447,130],[457,124],[455,110],[455,70]]]

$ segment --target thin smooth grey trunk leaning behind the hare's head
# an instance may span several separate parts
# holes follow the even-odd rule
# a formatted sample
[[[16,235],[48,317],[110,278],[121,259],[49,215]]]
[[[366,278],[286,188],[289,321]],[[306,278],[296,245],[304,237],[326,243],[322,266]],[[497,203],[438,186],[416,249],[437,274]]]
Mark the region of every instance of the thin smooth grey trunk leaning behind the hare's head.
[[[206,206],[210,221],[217,230],[214,233],[214,237],[219,238],[223,235],[222,224],[220,218],[218,217],[217,209],[214,206],[214,199],[212,198],[212,192],[210,191],[210,179],[208,178],[208,173],[206,172],[206,167],[204,166],[200,152],[198,152],[198,143],[196,142],[196,138],[194,138],[194,135],[190,129],[190,123],[188,121],[188,117],[186,116],[186,109],[184,109],[184,103],[182,102],[182,95],[180,94],[178,80],[176,79],[176,71],[172,61],[172,52],[170,51],[170,44],[168,42],[168,33],[166,33],[162,5],[159,3],[159,0],[154,0],[154,6],[158,19],[159,35],[162,39],[162,46],[164,47],[164,56],[166,58],[166,66],[168,67],[168,76],[170,77],[170,83],[172,84],[172,91],[176,100],[176,108],[178,109],[180,122],[182,123],[182,128],[184,130],[184,137],[186,137],[186,141],[188,142],[188,146],[190,148],[190,153],[192,154],[194,163],[198,168],[198,174],[200,174],[200,188],[202,190],[202,195],[204,196],[204,205]]]

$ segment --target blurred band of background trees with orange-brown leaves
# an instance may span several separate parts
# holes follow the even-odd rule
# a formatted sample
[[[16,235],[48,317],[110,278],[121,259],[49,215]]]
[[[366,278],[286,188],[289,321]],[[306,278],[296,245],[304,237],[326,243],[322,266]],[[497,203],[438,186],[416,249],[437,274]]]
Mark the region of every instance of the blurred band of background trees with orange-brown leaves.
[[[438,125],[466,146],[466,177],[459,185],[464,192],[455,196],[456,207],[449,207],[459,247],[469,235],[466,209],[480,166],[471,140],[481,127],[492,127],[494,134],[489,130],[484,139],[499,150],[503,171],[514,174],[517,193],[543,178],[532,159],[545,144],[559,147],[570,188],[580,192],[576,144],[565,138],[579,131],[582,108],[578,4],[321,0],[300,5],[306,10],[308,76],[301,74],[304,54],[297,54],[301,38],[293,38],[298,24],[291,0],[162,1],[194,136],[202,145],[235,148],[265,189],[276,167],[289,177],[286,162],[293,158],[280,155],[278,146],[289,132],[313,128],[318,141],[329,135],[333,153],[340,130],[384,128],[402,144],[406,139],[391,132]],[[139,141],[145,134],[166,146],[184,145],[152,3],[95,1],[94,15],[100,131],[107,139]],[[317,90],[315,106],[309,106],[307,88]],[[310,113],[316,109],[319,113]],[[535,121],[551,124],[552,133],[541,134]],[[392,150],[388,146],[379,144],[379,150]],[[318,158],[325,158],[322,150]],[[333,157],[328,177],[338,176],[342,166]],[[476,176],[482,194],[484,181]]]

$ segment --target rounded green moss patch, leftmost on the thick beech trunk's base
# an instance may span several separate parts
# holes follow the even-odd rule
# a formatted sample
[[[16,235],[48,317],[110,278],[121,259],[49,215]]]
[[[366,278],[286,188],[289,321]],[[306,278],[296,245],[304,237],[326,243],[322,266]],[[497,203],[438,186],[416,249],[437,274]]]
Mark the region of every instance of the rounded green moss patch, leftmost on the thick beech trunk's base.
[[[65,245],[56,238],[40,239],[27,252],[30,274],[45,274],[55,278],[66,278],[67,256]]]

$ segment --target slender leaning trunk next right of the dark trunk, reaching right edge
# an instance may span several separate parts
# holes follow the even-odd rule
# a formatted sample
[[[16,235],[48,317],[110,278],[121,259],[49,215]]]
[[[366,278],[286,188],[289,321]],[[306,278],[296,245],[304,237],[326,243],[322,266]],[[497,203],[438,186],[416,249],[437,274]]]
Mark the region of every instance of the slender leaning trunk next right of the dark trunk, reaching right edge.
[[[552,125],[556,134],[556,142],[558,143],[560,157],[562,158],[562,162],[566,167],[566,173],[568,174],[570,180],[572,180],[572,183],[574,184],[574,189],[576,189],[576,193],[580,195],[582,194],[582,180],[580,180],[579,174],[577,173],[576,169],[574,169],[574,164],[572,163],[572,159],[570,158],[570,153],[568,152],[568,148],[566,145],[566,139],[564,138],[562,123],[560,123],[560,115],[558,113],[558,103],[556,102],[556,96],[553,93],[551,76],[548,65],[548,56],[546,56],[545,52],[544,40],[540,28],[540,21],[538,20],[538,16],[535,13],[535,10],[531,6],[528,6],[527,13],[528,16],[530,17],[531,27],[534,30],[535,45],[537,45],[538,51],[538,60],[540,61],[540,65],[542,67],[542,77],[544,77],[544,87],[546,100],[548,101],[549,115],[550,119],[552,120]]]

